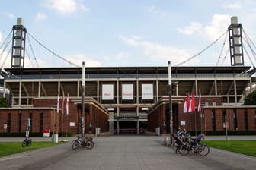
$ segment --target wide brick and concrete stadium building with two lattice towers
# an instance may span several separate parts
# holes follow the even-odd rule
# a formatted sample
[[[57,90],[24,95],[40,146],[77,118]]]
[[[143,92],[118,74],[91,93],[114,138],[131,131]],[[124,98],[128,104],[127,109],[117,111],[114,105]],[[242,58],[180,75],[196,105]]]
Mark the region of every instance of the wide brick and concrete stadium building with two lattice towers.
[[[82,67],[24,68],[26,29],[18,23],[11,68],[1,72],[11,108],[0,109],[0,132],[26,131],[27,118],[32,132],[80,134],[83,122],[86,134],[255,131],[256,106],[242,105],[254,70],[244,66],[241,30],[232,17],[229,67],[85,68],[83,85]],[[190,111],[185,102],[194,103]]]

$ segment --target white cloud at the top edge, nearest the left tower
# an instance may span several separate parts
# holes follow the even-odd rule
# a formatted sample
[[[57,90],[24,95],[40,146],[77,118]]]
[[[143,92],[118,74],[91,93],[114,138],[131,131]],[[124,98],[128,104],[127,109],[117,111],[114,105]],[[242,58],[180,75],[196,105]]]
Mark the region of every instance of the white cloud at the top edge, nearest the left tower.
[[[58,11],[60,14],[72,14],[75,11],[90,11],[89,8],[86,8],[78,0],[45,0],[44,5],[47,8]]]

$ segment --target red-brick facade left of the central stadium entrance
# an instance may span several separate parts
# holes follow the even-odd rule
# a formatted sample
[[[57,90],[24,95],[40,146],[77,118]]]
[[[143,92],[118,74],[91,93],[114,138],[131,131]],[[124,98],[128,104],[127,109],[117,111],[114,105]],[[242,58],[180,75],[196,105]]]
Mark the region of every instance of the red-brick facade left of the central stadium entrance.
[[[49,106],[52,107],[49,107]],[[50,129],[50,132],[71,132],[81,133],[81,107],[69,102],[69,114],[62,108],[56,112],[56,99],[34,99],[33,108],[23,109],[0,109],[0,133],[1,132],[25,132],[27,129],[27,119],[31,120],[31,132],[43,132],[43,129]],[[94,134],[95,128],[101,128],[102,132],[108,131],[107,111],[99,107],[94,102],[89,102],[85,106],[85,133]],[[53,117],[55,115],[55,118]],[[90,131],[89,124],[93,125]],[[5,128],[6,124],[6,128]],[[53,127],[54,126],[54,127]]]

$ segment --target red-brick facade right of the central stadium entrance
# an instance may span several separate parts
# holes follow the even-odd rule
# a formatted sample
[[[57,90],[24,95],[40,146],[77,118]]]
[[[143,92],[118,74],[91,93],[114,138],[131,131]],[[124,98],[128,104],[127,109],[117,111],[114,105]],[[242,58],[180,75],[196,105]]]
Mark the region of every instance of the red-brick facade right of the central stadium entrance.
[[[201,114],[197,112],[184,113],[184,101],[182,99],[174,99],[173,109],[173,129],[177,131],[186,128],[188,131],[201,131],[202,124],[204,131],[225,131],[223,123],[229,124],[229,131],[255,131],[256,130],[256,106],[222,106],[218,97],[202,99],[203,120]],[[195,99],[197,105],[198,99]],[[207,103],[207,104],[206,104]],[[214,104],[213,104],[214,103]],[[210,105],[210,106],[209,106]],[[213,106],[214,105],[214,106]],[[148,116],[148,130],[155,131],[160,127],[161,133],[169,133],[169,115],[168,115],[168,99],[162,99],[152,106]],[[167,128],[162,128],[163,121],[166,121]],[[204,121],[204,122],[202,122]],[[182,124],[181,124],[182,122]]]

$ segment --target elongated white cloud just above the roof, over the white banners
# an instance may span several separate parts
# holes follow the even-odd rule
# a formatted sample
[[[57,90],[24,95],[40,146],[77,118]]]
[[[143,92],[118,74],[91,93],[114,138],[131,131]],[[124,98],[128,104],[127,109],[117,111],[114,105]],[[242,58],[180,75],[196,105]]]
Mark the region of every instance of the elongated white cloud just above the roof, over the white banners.
[[[163,46],[158,43],[149,42],[142,39],[139,36],[124,37],[120,36],[123,42],[126,42],[130,46],[135,46],[142,49],[144,55],[149,56],[146,58],[147,61],[168,61],[171,60],[174,64],[178,64],[187,58],[189,53],[184,49],[178,49],[174,46]]]

